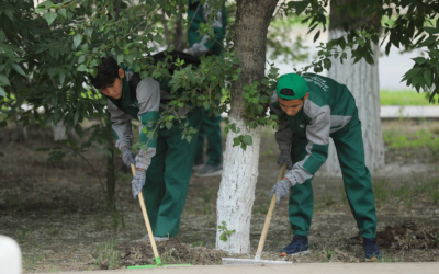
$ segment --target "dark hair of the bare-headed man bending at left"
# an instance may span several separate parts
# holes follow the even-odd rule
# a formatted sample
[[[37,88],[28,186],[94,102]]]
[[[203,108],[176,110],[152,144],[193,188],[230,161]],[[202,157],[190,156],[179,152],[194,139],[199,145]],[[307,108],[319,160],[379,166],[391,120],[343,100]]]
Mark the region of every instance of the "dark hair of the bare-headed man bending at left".
[[[114,80],[119,78],[119,65],[113,57],[102,57],[102,62],[99,65],[98,75],[95,77],[89,73],[91,84],[98,90],[105,89],[106,85],[113,84]]]

